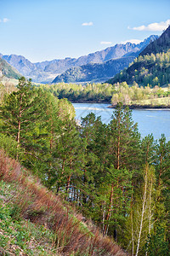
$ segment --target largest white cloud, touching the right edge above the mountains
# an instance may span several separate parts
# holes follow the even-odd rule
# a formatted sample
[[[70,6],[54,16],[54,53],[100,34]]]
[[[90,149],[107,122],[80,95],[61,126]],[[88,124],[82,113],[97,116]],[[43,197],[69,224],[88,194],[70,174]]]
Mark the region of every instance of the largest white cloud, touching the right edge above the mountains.
[[[148,26],[134,26],[133,28],[130,28],[127,26],[128,29],[138,30],[138,31],[163,31],[164,29],[167,29],[167,26],[170,25],[170,19],[166,21],[161,21],[159,23],[150,23]]]

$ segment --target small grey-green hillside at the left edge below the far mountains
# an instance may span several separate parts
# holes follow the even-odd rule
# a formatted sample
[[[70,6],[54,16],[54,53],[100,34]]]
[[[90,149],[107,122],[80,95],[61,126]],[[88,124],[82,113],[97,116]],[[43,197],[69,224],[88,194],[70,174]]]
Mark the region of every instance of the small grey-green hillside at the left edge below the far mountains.
[[[5,76],[8,79],[19,79],[20,73],[11,65],[8,64],[7,61],[4,61],[0,58],[0,77]]]

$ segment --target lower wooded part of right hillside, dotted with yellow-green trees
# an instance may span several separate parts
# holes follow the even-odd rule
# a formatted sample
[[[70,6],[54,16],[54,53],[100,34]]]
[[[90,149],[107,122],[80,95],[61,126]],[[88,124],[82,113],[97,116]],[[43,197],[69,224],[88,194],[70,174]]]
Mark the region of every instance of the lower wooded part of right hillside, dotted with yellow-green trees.
[[[151,87],[166,86],[170,83],[170,51],[156,55],[139,55],[132,66],[124,69],[108,82],[112,84],[123,81]]]

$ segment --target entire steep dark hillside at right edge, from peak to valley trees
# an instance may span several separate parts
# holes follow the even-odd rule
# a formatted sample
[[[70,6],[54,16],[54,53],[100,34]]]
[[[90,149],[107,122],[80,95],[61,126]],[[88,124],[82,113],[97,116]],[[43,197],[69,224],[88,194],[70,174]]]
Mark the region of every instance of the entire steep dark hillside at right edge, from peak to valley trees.
[[[108,82],[115,84],[126,81],[127,84],[164,86],[170,83],[170,26],[161,37],[150,43],[134,60],[133,65],[118,73]]]

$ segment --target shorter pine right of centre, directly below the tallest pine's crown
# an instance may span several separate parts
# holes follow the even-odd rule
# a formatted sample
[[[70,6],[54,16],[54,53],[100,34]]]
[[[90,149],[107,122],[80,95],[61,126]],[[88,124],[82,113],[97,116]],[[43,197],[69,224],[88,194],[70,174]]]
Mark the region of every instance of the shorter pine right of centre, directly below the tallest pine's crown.
[[[122,227],[130,210],[133,172],[116,169],[111,165],[105,176],[105,219],[103,233],[109,231],[116,241],[121,241]],[[104,183],[104,179],[103,179]]]

